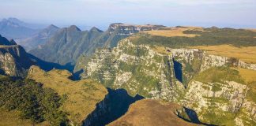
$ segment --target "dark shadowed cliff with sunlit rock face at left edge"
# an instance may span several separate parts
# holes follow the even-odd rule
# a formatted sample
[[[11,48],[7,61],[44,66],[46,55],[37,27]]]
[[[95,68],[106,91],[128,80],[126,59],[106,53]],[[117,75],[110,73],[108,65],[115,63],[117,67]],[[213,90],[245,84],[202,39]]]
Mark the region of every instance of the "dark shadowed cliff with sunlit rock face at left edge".
[[[22,46],[0,35],[0,74],[24,77],[32,64]]]

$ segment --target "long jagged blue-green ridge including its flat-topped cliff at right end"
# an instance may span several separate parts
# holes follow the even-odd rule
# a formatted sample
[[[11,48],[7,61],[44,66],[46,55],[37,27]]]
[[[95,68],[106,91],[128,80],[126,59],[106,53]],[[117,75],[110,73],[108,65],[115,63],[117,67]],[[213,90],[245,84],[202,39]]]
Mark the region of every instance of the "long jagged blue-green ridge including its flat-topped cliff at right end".
[[[89,31],[81,31],[73,25],[58,30],[45,45],[30,50],[29,53],[44,61],[75,65],[81,54],[90,56],[96,48],[116,46],[120,39],[134,35],[138,31],[162,27],[164,26],[111,24],[107,31],[95,27]]]

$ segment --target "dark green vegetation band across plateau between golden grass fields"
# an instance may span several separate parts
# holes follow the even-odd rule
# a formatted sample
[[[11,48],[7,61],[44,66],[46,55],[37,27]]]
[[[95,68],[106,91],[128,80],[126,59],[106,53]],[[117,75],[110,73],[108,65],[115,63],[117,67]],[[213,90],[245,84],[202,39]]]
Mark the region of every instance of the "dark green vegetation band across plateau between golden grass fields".
[[[204,28],[203,31],[186,30],[186,35],[196,35],[186,37],[174,35],[166,37],[164,35],[150,35],[139,33],[134,37],[134,43],[147,44],[150,46],[167,46],[180,48],[185,46],[214,46],[228,44],[232,46],[256,46],[256,32],[244,29],[232,28]]]

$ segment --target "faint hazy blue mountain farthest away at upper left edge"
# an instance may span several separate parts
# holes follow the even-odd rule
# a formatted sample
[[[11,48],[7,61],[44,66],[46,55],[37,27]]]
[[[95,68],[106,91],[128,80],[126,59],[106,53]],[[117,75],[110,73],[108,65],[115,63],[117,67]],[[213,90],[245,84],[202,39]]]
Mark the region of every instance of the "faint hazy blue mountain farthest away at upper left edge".
[[[8,39],[26,38],[34,35],[37,31],[36,29],[28,28],[28,24],[16,18],[0,21],[0,34]]]

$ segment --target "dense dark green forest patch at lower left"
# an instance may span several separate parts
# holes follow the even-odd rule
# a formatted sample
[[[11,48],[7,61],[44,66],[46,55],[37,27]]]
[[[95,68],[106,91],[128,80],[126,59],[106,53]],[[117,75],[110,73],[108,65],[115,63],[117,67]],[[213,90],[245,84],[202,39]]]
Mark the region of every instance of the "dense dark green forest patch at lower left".
[[[61,105],[58,94],[44,88],[42,83],[0,77],[0,107],[20,111],[21,118],[35,124],[47,121],[51,125],[66,125],[68,120],[66,113],[59,109]]]

